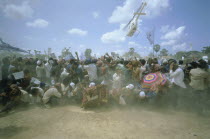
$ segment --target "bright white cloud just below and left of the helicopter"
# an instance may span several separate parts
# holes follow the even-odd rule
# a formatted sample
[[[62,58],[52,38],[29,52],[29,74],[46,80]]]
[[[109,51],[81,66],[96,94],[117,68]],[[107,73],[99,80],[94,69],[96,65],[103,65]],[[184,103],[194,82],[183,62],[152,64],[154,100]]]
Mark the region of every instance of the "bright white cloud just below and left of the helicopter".
[[[119,29],[116,29],[112,32],[107,32],[102,35],[101,41],[103,43],[121,43],[126,40],[126,33],[122,30],[122,27],[124,25],[121,25]]]

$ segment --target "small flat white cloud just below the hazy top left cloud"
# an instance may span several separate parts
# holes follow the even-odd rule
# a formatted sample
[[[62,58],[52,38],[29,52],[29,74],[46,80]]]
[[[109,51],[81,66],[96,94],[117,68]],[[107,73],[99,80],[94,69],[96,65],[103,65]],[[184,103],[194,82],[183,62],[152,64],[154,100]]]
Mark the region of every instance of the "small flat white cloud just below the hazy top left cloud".
[[[44,19],[36,19],[33,22],[27,22],[26,26],[35,27],[35,28],[45,28],[49,25],[49,23]]]

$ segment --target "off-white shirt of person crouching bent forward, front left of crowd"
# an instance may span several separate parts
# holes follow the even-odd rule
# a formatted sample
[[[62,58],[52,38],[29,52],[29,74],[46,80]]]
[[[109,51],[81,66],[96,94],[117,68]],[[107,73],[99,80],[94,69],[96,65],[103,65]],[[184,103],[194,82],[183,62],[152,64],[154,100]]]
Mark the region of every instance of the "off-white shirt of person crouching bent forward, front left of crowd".
[[[61,98],[61,94],[56,88],[50,88],[44,93],[44,96],[42,98],[43,102],[46,104],[52,96]]]

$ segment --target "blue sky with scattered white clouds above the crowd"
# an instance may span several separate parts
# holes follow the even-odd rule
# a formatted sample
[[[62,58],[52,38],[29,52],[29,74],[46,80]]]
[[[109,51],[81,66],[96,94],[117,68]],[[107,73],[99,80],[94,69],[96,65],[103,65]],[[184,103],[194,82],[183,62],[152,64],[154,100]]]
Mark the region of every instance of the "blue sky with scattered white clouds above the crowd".
[[[145,0],[147,15],[138,33],[126,37],[123,26],[141,0],[4,0],[0,1],[0,37],[23,49],[57,55],[64,47],[97,56],[123,54],[134,47],[140,55],[152,52],[146,32],[155,28],[155,43],[170,53],[201,50],[210,45],[209,0]]]

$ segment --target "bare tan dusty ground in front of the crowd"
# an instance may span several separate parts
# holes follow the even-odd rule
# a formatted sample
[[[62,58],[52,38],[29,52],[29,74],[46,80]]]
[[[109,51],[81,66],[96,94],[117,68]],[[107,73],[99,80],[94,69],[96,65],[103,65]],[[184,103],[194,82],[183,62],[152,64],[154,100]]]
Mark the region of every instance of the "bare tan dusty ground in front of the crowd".
[[[33,107],[0,117],[0,139],[209,139],[210,117],[154,108]]]

